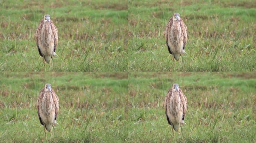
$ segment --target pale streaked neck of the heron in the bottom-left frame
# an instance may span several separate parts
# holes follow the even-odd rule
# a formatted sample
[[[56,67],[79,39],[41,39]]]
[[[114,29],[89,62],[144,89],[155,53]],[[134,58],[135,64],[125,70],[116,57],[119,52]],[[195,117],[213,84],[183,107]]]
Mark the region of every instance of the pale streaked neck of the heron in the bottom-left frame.
[[[49,91],[45,91],[45,95],[43,96],[43,111],[45,113],[45,115],[49,115],[52,111],[52,93]]]

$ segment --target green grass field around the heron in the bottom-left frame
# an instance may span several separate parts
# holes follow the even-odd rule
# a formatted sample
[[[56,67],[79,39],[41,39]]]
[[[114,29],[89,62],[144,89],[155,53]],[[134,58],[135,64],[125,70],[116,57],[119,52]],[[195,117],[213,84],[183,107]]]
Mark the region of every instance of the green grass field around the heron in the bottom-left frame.
[[[3,73],[0,142],[110,142],[128,118],[127,73]],[[45,83],[60,99],[54,137],[45,139],[36,101]],[[120,121],[119,121],[120,120]],[[122,124],[124,124],[124,120]]]

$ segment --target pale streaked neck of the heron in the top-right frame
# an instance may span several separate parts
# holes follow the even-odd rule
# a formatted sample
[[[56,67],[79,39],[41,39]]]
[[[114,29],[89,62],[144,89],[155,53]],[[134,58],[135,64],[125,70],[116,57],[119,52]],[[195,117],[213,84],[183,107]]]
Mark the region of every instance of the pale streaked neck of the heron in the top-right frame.
[[[173,20],[173,25],[171,26],[171,40],[173,43],[179,43],[180,41],[180,35],[181,35],[181,28],[180,28],[180,22],[178,20]]]

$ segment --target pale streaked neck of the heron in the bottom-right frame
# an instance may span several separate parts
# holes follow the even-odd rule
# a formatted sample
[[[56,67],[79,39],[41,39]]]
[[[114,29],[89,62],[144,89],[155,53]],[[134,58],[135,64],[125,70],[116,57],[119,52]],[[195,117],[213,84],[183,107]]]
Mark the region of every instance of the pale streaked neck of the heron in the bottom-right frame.
[[[170,98],[170,110],[173,115],[177,115],[180,110],[180,94],[177,91],[174,91]]]

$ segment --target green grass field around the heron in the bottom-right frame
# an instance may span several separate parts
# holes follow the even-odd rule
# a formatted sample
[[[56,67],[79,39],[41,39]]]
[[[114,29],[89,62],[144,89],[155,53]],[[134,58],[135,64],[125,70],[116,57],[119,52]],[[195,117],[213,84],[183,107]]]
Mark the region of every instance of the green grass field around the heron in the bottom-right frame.
[[[134,72],[128,77],[132,142],[256,142],[255,73]],[[187,125],[175,137],[163,107],[173,83],[188,99]]]

